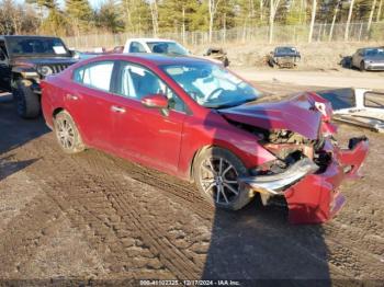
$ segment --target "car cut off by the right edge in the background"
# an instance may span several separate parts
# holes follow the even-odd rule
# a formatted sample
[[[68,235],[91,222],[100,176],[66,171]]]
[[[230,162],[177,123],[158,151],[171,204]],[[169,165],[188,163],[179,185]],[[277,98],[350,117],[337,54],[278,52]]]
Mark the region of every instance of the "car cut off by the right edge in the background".
[[[358,49],[352,56],[351,66],[361,71],[384,71],[384,48],[373,47]]]

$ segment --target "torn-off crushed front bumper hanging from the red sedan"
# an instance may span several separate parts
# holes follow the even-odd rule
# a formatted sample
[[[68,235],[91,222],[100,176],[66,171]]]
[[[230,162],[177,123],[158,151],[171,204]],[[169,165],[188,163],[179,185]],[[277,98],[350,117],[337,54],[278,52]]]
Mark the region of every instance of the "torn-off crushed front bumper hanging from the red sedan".
[[[369,149],[365,137],[352,138],[348,149],[339,149],[327,141],[325,149],[332,159],[325,171],[304,159],[279,175],[239,179],[244,188],[273,195],[283,195],[289,207],[291,223],[321,223],[332,218],[346,199],[337,191],[345,179],[359,177]]]

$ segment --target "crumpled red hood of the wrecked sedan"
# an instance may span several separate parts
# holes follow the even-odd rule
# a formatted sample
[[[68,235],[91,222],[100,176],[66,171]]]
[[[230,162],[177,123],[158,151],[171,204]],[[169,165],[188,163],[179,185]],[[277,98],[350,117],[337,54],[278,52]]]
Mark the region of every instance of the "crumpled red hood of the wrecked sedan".
[[[287,129],[317,139],[321,113],[309,93],[275,103],[247,103],[219,110],[227,119],[264,129]]]

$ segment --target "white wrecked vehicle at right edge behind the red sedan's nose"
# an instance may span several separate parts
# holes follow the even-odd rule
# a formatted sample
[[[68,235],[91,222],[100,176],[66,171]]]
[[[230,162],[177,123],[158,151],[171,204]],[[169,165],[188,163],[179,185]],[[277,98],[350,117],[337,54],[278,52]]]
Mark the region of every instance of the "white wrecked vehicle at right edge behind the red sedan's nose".
[[[320,92],[334,108],[334,119],[384,133],[384,93],[366,89]]]

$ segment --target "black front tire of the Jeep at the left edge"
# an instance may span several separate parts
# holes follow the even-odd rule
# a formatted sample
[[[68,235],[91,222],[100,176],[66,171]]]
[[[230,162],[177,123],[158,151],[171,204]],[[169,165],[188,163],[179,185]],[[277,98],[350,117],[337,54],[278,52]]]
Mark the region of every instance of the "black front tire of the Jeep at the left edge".
[[[18,80],[12,90],[18,115],[23,118],[35,118],[41,113],[39,97],[31,89],[31,81]]]

